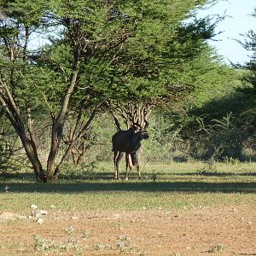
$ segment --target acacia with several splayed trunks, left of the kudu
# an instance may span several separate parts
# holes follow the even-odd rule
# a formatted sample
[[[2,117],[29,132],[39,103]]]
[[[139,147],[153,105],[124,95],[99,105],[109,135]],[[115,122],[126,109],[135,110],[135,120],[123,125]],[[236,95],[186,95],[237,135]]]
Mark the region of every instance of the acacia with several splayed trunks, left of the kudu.
[[[1,20],[3,58],[0,101],[4,113],[20,137],[37,179],[53,181],[58,176],[61,164],[67,160],[74,144],[83,136],[100,105],[99,95],[95,96],[92,92],[94,99],[91,102],[85,96],[78,96],[78,87],[90,86],[91,78],[99,70],[96,70],[94,65],[100,64],[102,57],[109,50],[118,48],[128,37],[129,31],[124,22],[115,19],[115,13],[112,12],[113,3],[42,1],[39,6],[43,9],[39,11],[38,2],[33,1],[17,1],[11,3],[11,6],[14,6],[14,9],[9,9],[6,3],[6,18]],[[25,9],[28,11],[24,11]],[[32,53],[28,48],[29,37],[33,36],[36,30],[50,26],[55,26],[63,32],[63,36],[55,40],[52,48],[46,49],[48,52],[43,51],[40,55]],[[129,26],[128,22],[127,27]],[[63,59],[65,56],[68,56],[66,60]],[[54,69],[51,69],[52,67]],[[83,72],[90,74],[87,80],[82,73],[84,67],[87,71]],[[43,98],[46,104],[42,104],[39,98]],[[95,107],[89,119],[81,125],[84,108],[92,104]],[[32,130],[33,114],[40,106],[43,106],[43,109],[48,108],[52,123],[46,173],[38,157],[38,146]],[[72,141],[60,162],[56,163],[68,110],[71,107],[78,109],[78,106],[79,113]]]

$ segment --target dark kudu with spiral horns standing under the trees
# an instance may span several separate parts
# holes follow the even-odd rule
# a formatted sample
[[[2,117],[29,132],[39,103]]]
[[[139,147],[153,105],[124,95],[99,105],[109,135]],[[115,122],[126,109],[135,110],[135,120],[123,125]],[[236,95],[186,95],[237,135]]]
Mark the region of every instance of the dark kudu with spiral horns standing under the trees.
[[[141,125],[137,131],[136,126],[131,126],[129,130],[126,131],[117,131],[112,137],[113,144],[113,164],[114,164],[114,178],[119,179],[119,161],[122,159],[125,154],[126,161],[126,173],[125,179],[128,180],[128,167],[129,165],[129,155],[131,155],[132,166],[136,166],[137,175],[141,179],[141,173],[138,163],[138,149],[141,147],[141,141],[143,139],[148,139],[148,122],[145,122],[146,125],[143,128]]]

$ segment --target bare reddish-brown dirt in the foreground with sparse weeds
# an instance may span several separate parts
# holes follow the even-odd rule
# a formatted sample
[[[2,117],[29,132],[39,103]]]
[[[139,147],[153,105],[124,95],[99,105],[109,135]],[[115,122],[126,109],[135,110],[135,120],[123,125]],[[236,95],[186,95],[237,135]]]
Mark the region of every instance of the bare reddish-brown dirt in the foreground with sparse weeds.
[[[17,212],[16,212],[17,213]],[[0,254],[256,255],[256,207],[59,212],[0,219]]]

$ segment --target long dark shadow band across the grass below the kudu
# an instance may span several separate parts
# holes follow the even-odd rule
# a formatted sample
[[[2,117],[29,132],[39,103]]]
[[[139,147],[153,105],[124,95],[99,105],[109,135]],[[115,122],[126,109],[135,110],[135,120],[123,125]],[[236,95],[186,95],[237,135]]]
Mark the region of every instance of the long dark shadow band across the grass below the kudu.
[[[6,183],[0,183],[4,192]],[[148,191],[148,192],[222,192],[256,193],[256,183],[200,183],[200,182],[76,182],[76,183],[8,183],[9,192],[110,192],[110,191]]]

